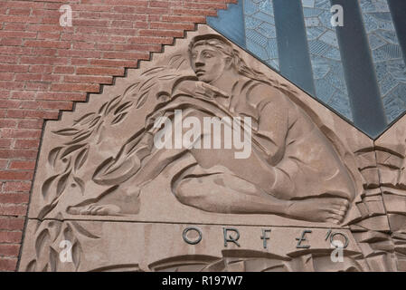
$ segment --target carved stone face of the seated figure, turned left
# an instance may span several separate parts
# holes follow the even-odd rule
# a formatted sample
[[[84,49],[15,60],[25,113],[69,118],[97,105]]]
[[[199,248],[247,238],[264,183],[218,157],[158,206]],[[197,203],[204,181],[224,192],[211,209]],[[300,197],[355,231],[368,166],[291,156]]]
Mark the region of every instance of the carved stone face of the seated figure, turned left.
[[[226,67],[226,57],[212,45],[200,44],[192,50],[192,68],[199,81],[217,80]]]

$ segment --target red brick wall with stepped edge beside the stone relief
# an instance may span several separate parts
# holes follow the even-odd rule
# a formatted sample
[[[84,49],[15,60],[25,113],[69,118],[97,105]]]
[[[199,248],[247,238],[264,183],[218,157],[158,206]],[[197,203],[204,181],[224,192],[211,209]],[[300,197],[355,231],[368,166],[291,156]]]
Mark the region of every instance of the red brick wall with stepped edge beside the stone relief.
[[[235,2],[0,0],[0,271],[17,264],[43,121]]]

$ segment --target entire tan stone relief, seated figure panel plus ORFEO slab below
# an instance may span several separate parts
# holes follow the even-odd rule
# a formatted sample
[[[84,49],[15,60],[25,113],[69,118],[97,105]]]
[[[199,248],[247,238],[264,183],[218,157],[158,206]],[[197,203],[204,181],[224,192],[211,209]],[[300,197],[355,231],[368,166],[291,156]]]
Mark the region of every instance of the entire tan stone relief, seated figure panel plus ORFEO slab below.
[[[358,131],[343,133],[340,127],[351,126],[338,117],[328,122],[319,107],[303,101],[303,92],[279,82],[275,73],[265,74],[235,45],[204,27],[124,84],[113,85],[97,102],[83,104],[86,110],[46,128],[26,234],[34,242],[25,244],[20,269],[395,269],[394,253],[404,256],[401,211],[406,209],[397,202],[403,189],[391,177],[394,157],[402,172],[404,150],[375,147]],[[180,252],[173,249],[148,261],[139,253],[134,258],[98,253],[102,263],[94,260],[98,255],[92,251],[113,248],[113,240],[123,245],[131,240],[137,244],[131,247],[147,252],[144,241],[161,237],[151,234],[156,225],[147,224],[160,214],[158,209],[147,215],[152,207],[185,211],[158,220],[171,228],[171,222],[232,225],[232,217],[247,227],[271,220],[287,231],[302,224],[314,231],[319,227],[317,237],[326,242],[326,229],[335,225],[349,233],[351,249],[345,249],[345,263],[339,265],[330,263],[329,245],[286,253],[241,247],[198,255],[193,249],[192,255],[182,244]],[[392,226],[401,224],[396,237],[387,210]],[[197,218],[184,220],[193,215]],[[275,219],[262,222],[263,217]],[[162,235],[177,231],[182,232],[176,227]],[[297,236],[292,237],[295,243]],[[58,259],[63,240],[72,243],[71,264]],[[164,246],[154,248],[159,252]]]

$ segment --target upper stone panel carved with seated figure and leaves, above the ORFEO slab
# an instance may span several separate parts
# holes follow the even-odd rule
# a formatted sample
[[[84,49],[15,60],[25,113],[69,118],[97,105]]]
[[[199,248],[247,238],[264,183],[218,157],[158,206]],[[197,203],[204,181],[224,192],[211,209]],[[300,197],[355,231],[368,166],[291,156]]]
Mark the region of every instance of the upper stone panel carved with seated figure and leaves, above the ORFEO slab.
[[[222,36],[212,35],[217,34],[200,26],[106,87],[101,96],[90,96],[89,103],[78,104],[61,121],[48,122],[30,218],[279,226],[306,226],[311,221],[316,226],[314,222],[341,223],[344,218],[341,224],[347,224],[349,218],[360,217],[351,206],[363,194],[357,155],[372,149],[372,140]],[[200,42],[192,53],[201,53],[192,63],[191,42]],[[222,52],[217,52],[214,64],[224,62],[224,67],[204,59],[202,53],[210,47]],[[231,90],[239,85],[240,94]],[[202,118],[202,111],[212,117],[250,115],[254,131],[250,159],[233,158],[234,147],[210,152],[151,149],[156,134],[148,127],[151,114],[167,115],[176,108],[190,108],[184,114],[194,118]],[[177,178],[185,169],[196,178]],[[225,184],[216,185],[213,174]],[[369,173],[365,176],[369,179]],[[232,184],[237,188],[231,189]],[[214,204],[214,196],[203,193],[199,199],[192,192],[200,188],[234,193],[219,193]],[[263,195],[278,200],[262,199]],[[320,199],[323,195],[338,199]],[[348,211],[345,200],[350,202]],[[269,208],[260,206],[264,203]],[[291,203],[289,212],[285,208]],[[323,207],[344,211],[329,215],[321,212]]]

